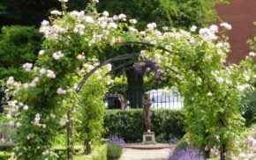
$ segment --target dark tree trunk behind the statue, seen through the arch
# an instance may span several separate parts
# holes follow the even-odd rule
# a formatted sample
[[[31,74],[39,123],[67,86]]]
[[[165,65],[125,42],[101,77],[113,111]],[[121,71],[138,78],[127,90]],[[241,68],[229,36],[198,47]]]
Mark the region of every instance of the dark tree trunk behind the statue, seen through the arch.
[[[139,74],[134,69],[126,70],[127,76],[127,98],[130,101],[131,108],[141,108],[143,106],[142,98],[144,94],[143,74]]]

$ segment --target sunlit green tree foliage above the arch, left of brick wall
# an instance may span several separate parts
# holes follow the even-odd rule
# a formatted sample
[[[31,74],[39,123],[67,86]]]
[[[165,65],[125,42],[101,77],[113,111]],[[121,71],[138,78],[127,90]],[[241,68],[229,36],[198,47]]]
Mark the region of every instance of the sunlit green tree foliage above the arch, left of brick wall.
[[[138,19],[139,29],[148,23],[155,22],[159,26],[188,28],[192,25],[209,25],[216,18],[213,10],[215,4],[222,0],[102,0],[98,4],[99,11],[109,11],[111,15],[124,13],[128,18]]]

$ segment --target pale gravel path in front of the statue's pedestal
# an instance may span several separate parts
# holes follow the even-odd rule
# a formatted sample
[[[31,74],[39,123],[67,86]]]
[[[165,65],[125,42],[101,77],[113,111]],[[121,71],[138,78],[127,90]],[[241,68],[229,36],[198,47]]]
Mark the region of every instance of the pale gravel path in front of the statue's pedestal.
[[[124,149],[119,160],[167,160],[171,149]]]

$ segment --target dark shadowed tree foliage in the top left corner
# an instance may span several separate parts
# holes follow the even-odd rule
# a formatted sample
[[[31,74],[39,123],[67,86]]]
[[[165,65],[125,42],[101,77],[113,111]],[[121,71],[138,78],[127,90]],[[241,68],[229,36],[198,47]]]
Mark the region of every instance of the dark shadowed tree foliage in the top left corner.
[[[69,10],[83,10],[86,2],[84,0],[70,0]],[[57,1],[48,0],[2,0],[0,2],[0,18],[2,25],[36,25],[49,16],[49,12],[60,9]],[[33,15],[33,16],[31,16]]]

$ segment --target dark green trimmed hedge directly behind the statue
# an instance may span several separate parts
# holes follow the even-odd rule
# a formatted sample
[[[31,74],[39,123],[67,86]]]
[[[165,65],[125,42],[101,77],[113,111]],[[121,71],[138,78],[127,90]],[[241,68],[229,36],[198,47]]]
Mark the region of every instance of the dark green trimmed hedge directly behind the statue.
[[[125,142],[141,142],[145,131],[142,109],[108,110],[105,117],[105,136],[117,135]],[[158,109],[151,111],[151,130],[156,142],[168,142],[184,135],[182,110]]]

